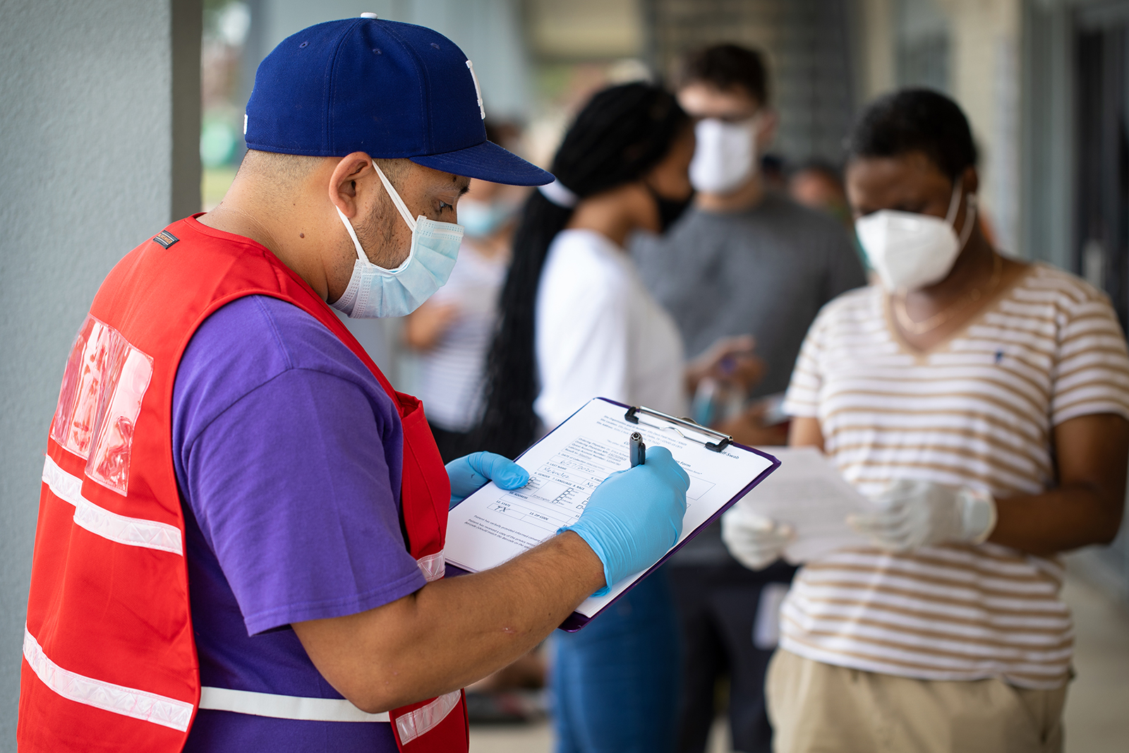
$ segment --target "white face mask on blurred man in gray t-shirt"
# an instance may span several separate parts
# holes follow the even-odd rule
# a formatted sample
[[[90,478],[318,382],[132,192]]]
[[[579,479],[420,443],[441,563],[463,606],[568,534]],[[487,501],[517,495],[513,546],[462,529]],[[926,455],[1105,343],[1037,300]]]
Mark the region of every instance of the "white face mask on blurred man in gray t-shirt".
[[[754,115],[739,123],[706,117],[694,125],[698,145],[690,161],[690,183],[701,193],[730,193],[756,173]]]

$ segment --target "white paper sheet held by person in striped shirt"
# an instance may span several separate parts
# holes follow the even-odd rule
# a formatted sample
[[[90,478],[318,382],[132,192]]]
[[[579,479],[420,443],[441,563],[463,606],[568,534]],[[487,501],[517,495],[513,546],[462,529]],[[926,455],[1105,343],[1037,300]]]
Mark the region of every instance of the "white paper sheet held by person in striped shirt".
[[[847,525],[851,513],[873,509],[815,447],[764,447],[780,467],[737,502],[796,529],[785,559],[797,564],[870,540]]]

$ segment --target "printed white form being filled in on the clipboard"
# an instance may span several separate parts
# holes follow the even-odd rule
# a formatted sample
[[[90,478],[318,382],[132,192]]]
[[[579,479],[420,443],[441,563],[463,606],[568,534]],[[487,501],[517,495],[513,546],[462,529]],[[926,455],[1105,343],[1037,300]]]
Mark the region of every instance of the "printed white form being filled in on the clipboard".
[[[736,447],[720,453],[706,449],[663,428],[665,422],[654,417],[641,414],[634,424],[623,414],[619,405],[592,400],[518,458],[530,472],[528,485],[505,491],[489,483],[453,509],[447,519],[447,561],[472,572],[497,567],[575,523],[599,482],[628,467],[632,431],[639,431],[648,447],[669,449],[690,475],[680,543],[772,465]],[[586,599],[577,611],[594,615],[642,572],[615,584],[605,596]]]

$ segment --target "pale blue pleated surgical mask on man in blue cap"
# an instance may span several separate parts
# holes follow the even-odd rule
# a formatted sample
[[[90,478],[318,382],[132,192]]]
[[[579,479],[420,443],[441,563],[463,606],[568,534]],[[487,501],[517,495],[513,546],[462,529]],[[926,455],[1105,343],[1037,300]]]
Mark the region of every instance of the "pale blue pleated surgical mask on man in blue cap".
[[[458,257],[458,246],[463,242],[462,225],[436,222],[422,214],[413,220],[404,200],[375,161],[373,168],[380,176],[380,183],[400,216],[411,228],[412,246],[408,259],[396,269],[377,266],[368,261],[349,218],[338,210],[338,216],[357,248],[357,261],[353,262],[349,287],[330,306],[355,319],[406,316],[414,312],[447,282],[450,270],[455,266],[455,259]]]

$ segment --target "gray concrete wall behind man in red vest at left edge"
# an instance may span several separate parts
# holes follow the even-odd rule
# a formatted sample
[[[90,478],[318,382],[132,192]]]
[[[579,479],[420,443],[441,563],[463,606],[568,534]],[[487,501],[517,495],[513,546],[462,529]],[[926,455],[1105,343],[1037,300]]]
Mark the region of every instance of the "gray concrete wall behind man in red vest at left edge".
[[[0,751],[67,351],[111,266],[200,204],[200,0],[0,2]]]

